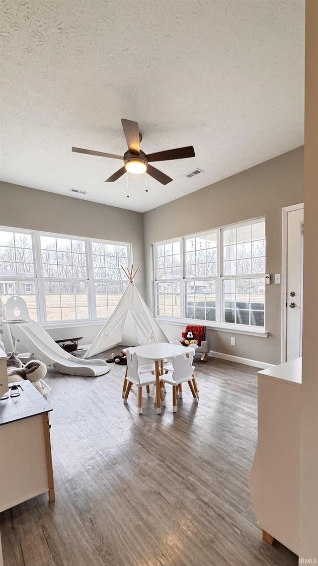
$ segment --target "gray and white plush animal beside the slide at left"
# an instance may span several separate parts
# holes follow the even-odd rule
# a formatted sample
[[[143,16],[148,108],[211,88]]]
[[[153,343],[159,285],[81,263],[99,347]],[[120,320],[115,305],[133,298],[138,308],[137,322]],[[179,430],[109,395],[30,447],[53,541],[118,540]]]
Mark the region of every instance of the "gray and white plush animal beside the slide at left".
[[[40,379],[46,375],[46,365],[38,359],[32,359],[23,366],[22,361],[16,357],[18,352],[12,352],[7,357],[8,383],[14,381],[24,381],[28,379],[35,386],[37,391],[43,395],[43,388]]]

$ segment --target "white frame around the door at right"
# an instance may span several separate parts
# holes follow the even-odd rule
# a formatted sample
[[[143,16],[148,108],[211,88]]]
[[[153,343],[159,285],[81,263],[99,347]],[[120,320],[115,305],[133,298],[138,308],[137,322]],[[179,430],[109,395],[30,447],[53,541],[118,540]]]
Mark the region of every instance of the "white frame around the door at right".
[[[282,208],[282,295],[281,295],[281,363],[286,362],[287,339],[287,218],[288,213],[304,208],[304,203]]]

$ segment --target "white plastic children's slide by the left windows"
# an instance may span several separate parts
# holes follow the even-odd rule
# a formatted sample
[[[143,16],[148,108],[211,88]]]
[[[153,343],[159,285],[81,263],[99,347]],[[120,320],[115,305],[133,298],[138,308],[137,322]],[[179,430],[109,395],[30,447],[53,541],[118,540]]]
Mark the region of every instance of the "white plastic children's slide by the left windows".
[[[9,325],[14,340],[31,352],[32,358],[40,359],[49,368],[62,374],[88,377],[96,377],[109,371],[109,366],[103,359],[87,361],[63,350],[40,324],[28,318],[28,307],[22,297],[12,295],[7,300],[5,310],[5,324]]]

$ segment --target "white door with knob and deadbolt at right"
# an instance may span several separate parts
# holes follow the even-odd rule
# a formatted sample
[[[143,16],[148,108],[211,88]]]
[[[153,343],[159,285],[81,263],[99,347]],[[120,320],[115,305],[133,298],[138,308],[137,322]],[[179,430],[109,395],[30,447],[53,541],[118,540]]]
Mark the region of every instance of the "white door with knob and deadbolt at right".
[[[303,208],[287,213],[287,362],[302,355],[303,226]]]

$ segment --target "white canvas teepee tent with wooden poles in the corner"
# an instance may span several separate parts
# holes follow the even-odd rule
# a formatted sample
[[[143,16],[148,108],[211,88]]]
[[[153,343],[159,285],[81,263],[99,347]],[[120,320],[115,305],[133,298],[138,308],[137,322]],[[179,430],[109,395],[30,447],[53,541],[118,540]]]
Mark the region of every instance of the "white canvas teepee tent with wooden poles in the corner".
[[[89,346],[84,358],[110,350],[118,344],[134,346],[137,344],[153,344],[154,342],[169,342],[161,328],[154,319],[143,298],[134,284],[134,275],[125,271],[129,285],[124,291],[121,300],[104,324],[95,340]]]

